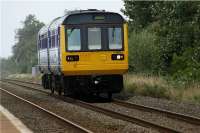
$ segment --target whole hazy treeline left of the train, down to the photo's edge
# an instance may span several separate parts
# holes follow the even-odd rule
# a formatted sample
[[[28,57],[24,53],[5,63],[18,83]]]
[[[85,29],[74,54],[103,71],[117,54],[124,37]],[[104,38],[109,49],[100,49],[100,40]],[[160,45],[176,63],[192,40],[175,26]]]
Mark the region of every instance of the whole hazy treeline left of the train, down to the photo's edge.
[[[16,44],[12,47],[12,56],[0,59],[1,75],[13,73],[30,73],[32,66],[37,65],[37,33],[44,23],[28,15],[23,27],[17,29]]]

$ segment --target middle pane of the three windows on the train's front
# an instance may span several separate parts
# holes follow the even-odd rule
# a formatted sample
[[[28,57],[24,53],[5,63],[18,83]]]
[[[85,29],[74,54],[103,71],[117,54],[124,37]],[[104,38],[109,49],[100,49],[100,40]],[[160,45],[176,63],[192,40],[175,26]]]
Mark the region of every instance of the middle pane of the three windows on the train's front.
[[[101,49],[100,28],[88,28],[88,49]]]

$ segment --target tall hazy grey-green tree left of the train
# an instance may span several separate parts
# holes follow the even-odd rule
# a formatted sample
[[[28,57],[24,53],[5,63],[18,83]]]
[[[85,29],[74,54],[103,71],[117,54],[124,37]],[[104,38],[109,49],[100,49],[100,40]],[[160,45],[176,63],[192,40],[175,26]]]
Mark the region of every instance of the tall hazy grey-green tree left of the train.
[[[31,72],[37,64],[37,33],[44,26],[34,15],[28,15],[23,27],[17,30],[17,43],[13,46],[13,59],[20,73]]]

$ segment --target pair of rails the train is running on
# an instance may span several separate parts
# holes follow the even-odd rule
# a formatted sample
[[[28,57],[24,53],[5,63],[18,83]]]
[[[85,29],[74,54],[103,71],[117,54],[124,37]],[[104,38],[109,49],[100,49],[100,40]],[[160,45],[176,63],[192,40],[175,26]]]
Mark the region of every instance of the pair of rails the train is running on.
[[[11,81],[11,80],[10,80]],[[37,91],[40,91],[42,93],[46,93],[46,94],[49,94],[49,92],[45,91],[45,90],[41,90],[41,89],[36,89],[36,88],[33,88],[33,87],[30,87],[30,86],[26,86],[26,85],[22,85],[22,84],[18,84],[16,82],[21,82],[21,83],[25,83],[23,81],[18,81],[18,80],[12,80],[12,81],[15,81],[14,82],[10,82],[7,80],[7,82],[9,83],[12,83],[12,84],[15,84],[15,85],[18,85],[18,86],[22,86],[22,87],[26,87],[26,88],[29,88],[29,89],[32,89],[32,90],[37,90]],[[34,84],[34,83],[31,83],[31,82],[26,82],[28,84]],[[69,98],[69,97],[64,97],[64,96],[57,96],[57,95],[52,95],[53,97],[56,97],[56,98],[59,98],[61,100],[64,100],[66,102],[73,102],[73,104],[76,104],[78,106],[81,106],[81,107],[84,107],[84,108],[87,108],[87,109],[91,109],[93,111],[96,111],[96,112],[99,112],[99,113],[103,113],[105,115],[108,115],[108,116],[111,116],[113,118],[117,118],[117,119],[121,119],[121,120],[124,120],[124,121],[128,121],[128,122],[131,122],[131,123],[135,123],[135,124],[138,124],[138,125],[141,125],[143,127],[150,127],[150,128],[155,128],[161,132],[180,132],[180,131],[177,131],[175,129],[171,129],[171,128],[168,128],[168,127],[164,127],[164,126],[161,126],[161,125],[158,125],[158,124],[155,124],[155,123],[152,123],[152,122],[148,122],[148,121],[145,121],[145,120],[142,120],[142,119],[137,119],[137,118],[133,118],[133,117],[130,117],[130,116],[127,116],[127,115],[124,115],[124,114],[121,114],[121,113],[117,113],[117,112],[114,112],[114,111],[111,111],[111,110],[107,110],[107,109],[104,109],[104,108],[101,108],[101,107],[97,107],[95,105],[92,105],[90,103],[86,103],[86,102],[83,102],[83,101],[79,101],[79,100],[74,100],[72,98]],[[127,103],[127,102],[123,102],[123,101],[119,101],[119,100],[114,100],[113,101],[114,104],[118,104],[118,105],[121,105],[121,106],[125,106],[127,108],[137,108],[137,109],[142,109],[142,110],[145,110],[145,107],[146,106],[142,106],[141,105],[134,105],[132,103]],[[146,107],[148,108],[148,107]],[[155,110],[157,111],[155,108],[148,108],[146,109],[147,111],[152,111],[152,110]],[[160,113],[166,113],[164,111],[157,111],[157,112],[160,112]],[[167,112],[168,113],[168,112]],[[173,112],[171,112],[173,113]],[[175,115],[175,113],[173,113],[173,115]],[[183,114],[179,114],[179,116]],[[170,115],[171,116],[171,115]],[[179,119],[179,117],[175,117],[175,116],[171,116],[173,118],[176,118],[176,119]],[[181,118],[181,120],[185,120],[187,117],[190,117],[190,116],[185,116],[184,115],[184,119]],[[189,118],[191,119],[191,117]],[[199,119],[198,118],[194,118],[192,117],[192,121],[190,121],[189,119],[187,119],[186,121],[187,122],[190,122],[190,123],[195,123],[195,124],[199,124]],[[196,120],[196,122],[195,122]]]

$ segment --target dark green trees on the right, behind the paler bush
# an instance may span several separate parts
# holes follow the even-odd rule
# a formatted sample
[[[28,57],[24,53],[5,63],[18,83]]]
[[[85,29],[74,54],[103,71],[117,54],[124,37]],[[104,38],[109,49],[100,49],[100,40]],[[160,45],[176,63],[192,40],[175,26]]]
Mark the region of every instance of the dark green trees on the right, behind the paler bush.
[[[124,5],[122,11],[129,17],[130,31],[140,35],[151,27],[156,35],[154,43],[157,43],[159,55],[158,64],[154,65],[158,67],[156,70],[163,74],[181,76],[187,73],[186,77],[200,77],[200,74],[197,76],[200,71],[200,2],[124,0]],[[129,44],[134,42],[130,40]],[[138,44],[137,47],[143,46]],[[187,65],[183,67],[182,63]]]

